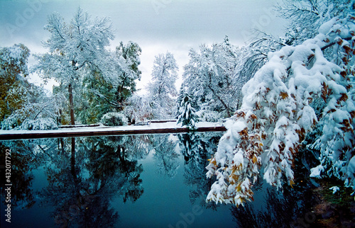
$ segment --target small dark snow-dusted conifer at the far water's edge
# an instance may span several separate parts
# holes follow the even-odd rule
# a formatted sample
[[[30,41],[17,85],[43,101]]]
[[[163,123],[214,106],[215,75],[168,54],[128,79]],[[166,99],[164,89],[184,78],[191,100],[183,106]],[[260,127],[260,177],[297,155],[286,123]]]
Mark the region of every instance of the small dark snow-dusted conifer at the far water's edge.
[[[185,96],[180,102],[178,111],[178,124],[181,123],[182,126],[187,126],[189,129],[193,130],[196,128],[196,123],[198,121],[198,115],[196,114],[195,108],[192,107],[192,101],[190,96],[185,93]]]

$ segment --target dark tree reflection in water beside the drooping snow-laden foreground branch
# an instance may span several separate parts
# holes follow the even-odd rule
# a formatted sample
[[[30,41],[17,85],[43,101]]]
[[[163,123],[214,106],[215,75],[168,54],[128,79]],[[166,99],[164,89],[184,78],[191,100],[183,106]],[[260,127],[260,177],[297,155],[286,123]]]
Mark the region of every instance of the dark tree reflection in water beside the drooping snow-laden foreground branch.
[[[185,183],[192,186],[190,200],[194,204],[200,200],[200,205],[206,208],[216,209],[215,203],[206,203],[207,193],[214,183],[211,178],[206,178],[208,159],[216,152],[220,133],[188,133],[179,134],[179,145],[182,155],[185,158]]]

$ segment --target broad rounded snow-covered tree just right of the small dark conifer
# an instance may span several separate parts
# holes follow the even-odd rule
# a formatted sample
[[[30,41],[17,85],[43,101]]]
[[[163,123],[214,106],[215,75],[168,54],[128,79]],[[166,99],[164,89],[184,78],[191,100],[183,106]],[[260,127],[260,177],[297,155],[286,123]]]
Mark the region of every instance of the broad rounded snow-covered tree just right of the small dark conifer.
[[[227,117],[235,110],[234,75],[238,61],[236,47],[224,42],[200,46],[200,53],[190,50],[190,61],[184,67],[183,85],[194,98],[199,110],[207,108],[224,112]]]

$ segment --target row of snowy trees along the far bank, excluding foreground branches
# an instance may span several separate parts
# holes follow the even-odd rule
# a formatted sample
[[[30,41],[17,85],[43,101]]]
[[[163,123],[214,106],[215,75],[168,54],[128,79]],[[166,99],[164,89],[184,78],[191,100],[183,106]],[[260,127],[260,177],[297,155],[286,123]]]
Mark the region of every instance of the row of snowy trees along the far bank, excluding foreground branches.
[[[170,52],[155,56],[152,81],[146,86],[148,95],[138,96],[135,92],[136,80],[141,79],[141,47],[129,41],[108,51],[107,46],[114,39],[108,18],[92,20],[78,8],[68,22],[58,13],[51,14],[44,28],[50,32],[50,38],[43,42],[48,52],[33,55],[37,62],[31,69],[28,47],[1,47],[1,129],[40,130],[75,122],[91,124],[111,112],[124,113],[129,122],[185,116],[179,113],[181,103],[177,103],[177,98],[182,96],[182,90],[179,92],[174,86],[178,65]],[[215,122],[234,113],[234,101],[236,97],[241,99],[235,69],[241,65],[239,60],[247,48],[231,45],[225,37],[224,42],[212,47],[201,45],[200,53],[190,50],[182,88],[186,87],[191,98],[196,112],[193,115]],[[195,65],[197,62],[200,65]],[[58,82],[51,96],[28,82],[31,73],[38,73],[44,83],[49,79]],[[195,84],[196,88],[186,84]]]

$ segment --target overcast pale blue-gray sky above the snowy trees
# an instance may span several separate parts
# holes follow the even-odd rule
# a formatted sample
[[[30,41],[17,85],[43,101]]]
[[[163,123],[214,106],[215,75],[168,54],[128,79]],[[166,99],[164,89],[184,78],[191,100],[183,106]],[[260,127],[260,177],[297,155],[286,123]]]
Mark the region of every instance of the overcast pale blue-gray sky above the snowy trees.
[[[22,42],[31,53],[45,52],[41,42],[49,38],[43,29],[50,13],[58,12],[70,21],[80,6],[92,17],[109,17],[116,38],[132,40],[142,48],[143,88],[151,79],[155,55],[172,52],[182,67],[188,62],[190,48],[202,43],[222,42],[228,35],[234,45],[244,45],[252,38],[253,28],[273,35],[283,35],[285,21],[276,17],[272,1],[240,0],[0,0],[0,46]],[[29,59],[29,65],[34,59]],[[33,81],[40,80],[32,76]],[[178,82],[180,84],[180,81]],[[47,88],[50,86],[46,86]]]

